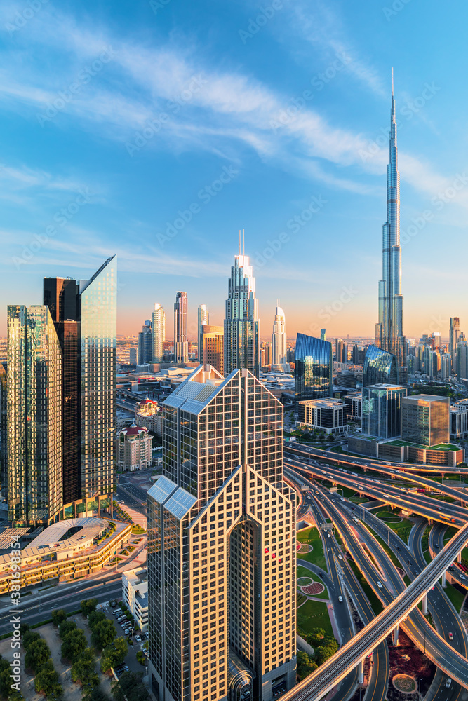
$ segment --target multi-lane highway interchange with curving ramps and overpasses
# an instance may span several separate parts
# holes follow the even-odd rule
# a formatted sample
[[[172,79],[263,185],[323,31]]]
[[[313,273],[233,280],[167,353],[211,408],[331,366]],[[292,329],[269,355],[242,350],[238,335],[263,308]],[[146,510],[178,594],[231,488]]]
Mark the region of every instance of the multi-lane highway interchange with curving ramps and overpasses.
[[[417,467],[421,468],[421,465]],[[359,474],[355,472],[356,469],[359,470]],[[436,470],[429,466],[427,476],[422,477],[415,471],[408,470],[406,463],[382,464],[371,459],[330,455],[329,452],[300,444],[285,444],[286,477],[297,489],[308,490],[302,491],[297,520],[303,518],[305,512],[310,510],[319,529],[327,519],[328,522],[333,522],[342,540],[340,547],[335,536],[328,537],[328,533],[322,531],[328,575],[333,585],[330,585],[328,579],[324,583],[333,601],[342,647],[331,658],[333,662],[328,660],[321,665],[283,698],[314,701],[331,688],[337,688],[333,698],[346,701],[346,698],[354,693],[346,695],[355,683],[356,676],[358,681],[362,681],[362,669],[356,668],[356,664],[368,653],[373,653],[366,699],[383,701],[389,678],[387,635],[392,632],[389,625],[392,620],[399,624],[393,628],[393,639],[395,632],[401,627],[413,643],[438,667],[427,693],[427,701],[457,701],[464,690],[468,689],[467,634],[460,615],[450,603],[441,584],[437,582],[442,577],[441,582],[445,585],[444,573],[449,570],[447,580],[451,579],[468,588],[468,580],[454,562],[468,541],[464,508],[468,498],[464,492],[454,489],[446,482],[434,482],[431,477],[436,475],[438,470],[440,474],[441,468]],[[468,472],[468,468],[443,470],[458,474]],[[377,472],[379,476],[375,474]],[[399,482],[399,486],[393,484],[394,480]],[[408,515],[415,515],[408,545],[370,510],[356,506],[335,490],[330,492],[328,488],[332,485],[335,488],[337,485],[351,488],[373,500],[375,505],[380,503],[382,508],[388,504],[401,508]],[[421,488],[420,492],[411,491],[416,486]],[[457,503],[436,501],[428,496],[429,491],[457,499]],[[429,565],[421,545],[428,524],[433,524],[429,533],[429,553],[434,558]],[[444,545],[448,526],[454,526],[457,533],[448,545]],[[372,612],[347,557],[342,557],[346,550],[385,606],[385,610],[377,617]],[[337,563],[340,573],[336,571]],[[300,564],[304,566],[305,560],[301,559]],[[305,566],[318,573],[318,568],[314,569],[311,564]],[[411,581],[408,587],[401,571]],[[366,624],[363,634],[355,635],[349,644],[347,637],[343,635],[343,620],[346,614],[342,611],[343,608],[348,609],[348,606],[338,603],[338,590],[346,594],[340,595],[348,604],[352,602],[352,606],[359,611],[362,622]],[[427,594],[427,597],[424,597],[424,594]],[[363,601],[372,612],[367,619],[363,611]],[[432,617],[434,627],[424,618],[417,604]],[[404,615],[401,615],[403,608]],[[376,621],[380,619],[380,625],[377,625]],[[384,637],[382,629],[386,632]],[[376,669],[379,670],[377,673]],[[404,672],[404,669],[401,671]]]

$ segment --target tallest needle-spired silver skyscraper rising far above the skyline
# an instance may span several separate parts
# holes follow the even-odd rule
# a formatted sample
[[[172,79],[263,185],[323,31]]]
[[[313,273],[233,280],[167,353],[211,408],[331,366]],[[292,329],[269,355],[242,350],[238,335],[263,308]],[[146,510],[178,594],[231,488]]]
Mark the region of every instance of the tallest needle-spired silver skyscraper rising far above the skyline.
[[[395,100],[392,78],[390,114],[390,158],[387,165],[387,221],[382,230],[382,280],[379,283],[379,320],[375,325],[375,345],[393,353],[396,365],[406,367],[403,336],[403,295],[401,294],[400,174],[396,146]],[[404,379],[404,372],[400,373]]]

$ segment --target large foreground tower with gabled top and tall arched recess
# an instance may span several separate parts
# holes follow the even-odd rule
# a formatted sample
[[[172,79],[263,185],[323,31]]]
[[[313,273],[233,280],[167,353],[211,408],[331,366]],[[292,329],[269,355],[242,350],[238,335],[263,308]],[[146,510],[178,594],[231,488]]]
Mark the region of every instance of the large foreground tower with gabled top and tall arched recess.
[[[168,397],[147,503],[156,698],[269,701],[272,685],[292,688],[295,500],[283,407],[252,373],[199,366]]]

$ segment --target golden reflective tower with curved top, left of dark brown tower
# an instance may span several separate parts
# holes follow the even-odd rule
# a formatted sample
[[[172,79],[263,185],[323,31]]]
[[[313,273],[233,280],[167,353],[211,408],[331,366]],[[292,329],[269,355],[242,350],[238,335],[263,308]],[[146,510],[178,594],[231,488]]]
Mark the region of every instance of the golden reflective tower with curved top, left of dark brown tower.
[[[8,306],[8,518],[62,506],[62,352],[47,306]]]

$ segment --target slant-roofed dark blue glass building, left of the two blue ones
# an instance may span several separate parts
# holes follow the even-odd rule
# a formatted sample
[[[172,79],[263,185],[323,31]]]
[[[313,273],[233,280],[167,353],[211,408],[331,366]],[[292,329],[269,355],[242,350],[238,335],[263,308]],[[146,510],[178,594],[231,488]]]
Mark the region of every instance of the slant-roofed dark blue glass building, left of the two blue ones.
[[[295,348],[295,400],[332,396],[332,348],[329,341],[297,334]]]

